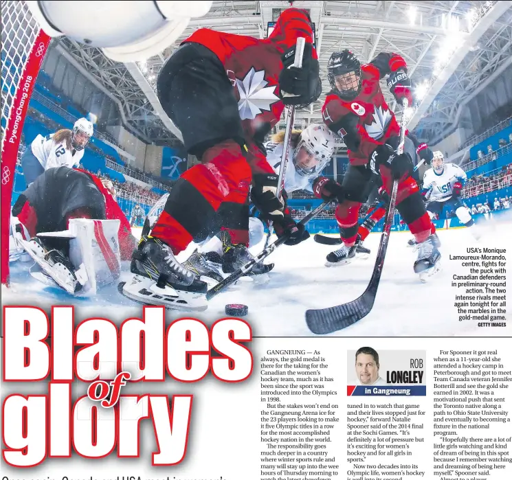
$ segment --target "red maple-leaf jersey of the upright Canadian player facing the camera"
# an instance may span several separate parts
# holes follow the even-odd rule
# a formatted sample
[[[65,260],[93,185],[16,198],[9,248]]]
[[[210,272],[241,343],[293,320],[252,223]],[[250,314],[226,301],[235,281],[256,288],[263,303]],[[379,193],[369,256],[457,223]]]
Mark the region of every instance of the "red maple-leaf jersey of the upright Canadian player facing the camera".
[[[335,93],[329,93],[325,99],[324,124],[344,139],[353,165],[365,165],[378,145],[400,134],[397,119],[379,84],[383,76],[399,68],[405,69],[403,58],[379,54],[374,61],[361,66],[361,92],[355,100],[348,102]]]

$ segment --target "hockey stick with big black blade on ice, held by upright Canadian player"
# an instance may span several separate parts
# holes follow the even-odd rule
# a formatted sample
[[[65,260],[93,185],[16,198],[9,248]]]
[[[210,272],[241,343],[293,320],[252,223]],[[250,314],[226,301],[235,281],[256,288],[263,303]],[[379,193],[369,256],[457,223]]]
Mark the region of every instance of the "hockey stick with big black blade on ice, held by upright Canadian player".
[[[408,106],[408,100],[403,100],[403,110],[400,123],[400,144],[397,148],[397,154],[403,153],[403,144],[405,141],[405,108]],[[375,260],[375,267],[373,268],[370,283],[364,290],[361,296],[346,304],[337,305],[335,307],[320,308],[317,310],[306,311],[306,323],[309,330],[315,334],[328,334],[342,330],[357,321],[366,317],[372,310],[377,296],[377,288],[381,280],[382,268],[386,258],[386,250],[388,249],[388,242],[390,237],[392,219],[394,215],[394,206],[397,203],[398,180],[393,181],[390,205],[386,213],[386,222],[381,235],[379,243],[379,250],[377,251],[377,260]]]

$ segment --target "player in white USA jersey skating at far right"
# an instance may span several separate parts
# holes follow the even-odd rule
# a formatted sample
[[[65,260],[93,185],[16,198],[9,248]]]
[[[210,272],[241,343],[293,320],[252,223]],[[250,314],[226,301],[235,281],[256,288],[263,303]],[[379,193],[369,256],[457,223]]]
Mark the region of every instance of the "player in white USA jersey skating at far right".
[[[445,163],[443,152],[434,152],[432,168],[423,175],[422,194],[427,202],[430,218],[441,216],[446,206],[454,209],[460,223],[472,227],[474,220],[469,209],[460,200],[460,193],[467,181],[466,172],[455,163]],[[410,240],[409,244],[415,244]]]

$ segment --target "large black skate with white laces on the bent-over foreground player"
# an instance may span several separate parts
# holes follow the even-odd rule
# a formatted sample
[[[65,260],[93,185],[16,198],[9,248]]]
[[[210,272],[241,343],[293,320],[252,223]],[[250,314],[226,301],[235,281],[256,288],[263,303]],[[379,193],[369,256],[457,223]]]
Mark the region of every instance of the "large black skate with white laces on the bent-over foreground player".
[[[164,242],[143,237],[133,252],[130,282],[122,282],[119,292],[141,304],[163,305],[174,310],[206,310],[207,284],[180,264]]]

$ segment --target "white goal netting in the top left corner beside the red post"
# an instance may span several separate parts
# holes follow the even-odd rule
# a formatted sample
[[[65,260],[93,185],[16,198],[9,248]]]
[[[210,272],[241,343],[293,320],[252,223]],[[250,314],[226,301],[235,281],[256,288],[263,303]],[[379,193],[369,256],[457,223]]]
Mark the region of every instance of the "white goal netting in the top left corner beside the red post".
[[[11,107],[27,58],[39,32],[24,1],[1,1],[1,146],[11,119]]]

